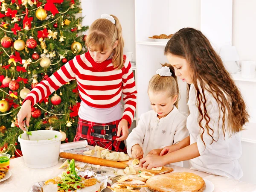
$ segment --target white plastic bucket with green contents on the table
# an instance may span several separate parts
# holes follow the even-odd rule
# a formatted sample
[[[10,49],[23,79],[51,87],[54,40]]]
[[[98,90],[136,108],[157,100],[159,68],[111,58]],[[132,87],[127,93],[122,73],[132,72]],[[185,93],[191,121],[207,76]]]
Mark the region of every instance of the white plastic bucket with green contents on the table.
[[[58,164],[62,134],[59,131],[31,131],[20,134],[18,141],[25,165],[30,168],[46,168]]]

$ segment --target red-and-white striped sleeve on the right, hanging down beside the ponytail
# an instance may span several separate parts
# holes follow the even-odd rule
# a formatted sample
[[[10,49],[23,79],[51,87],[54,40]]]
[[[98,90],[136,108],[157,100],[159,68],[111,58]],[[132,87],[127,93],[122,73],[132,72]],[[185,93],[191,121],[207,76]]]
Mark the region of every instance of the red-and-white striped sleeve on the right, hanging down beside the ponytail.
[[[124,105],[124,113],[122,119],[128,121],[128,127],[134,119],[134,113],[137,104],[137,90],[135,87],[134,74],[131,68],[131,63],[128,59],[125,59],[125,73],[122,76],[122,93]]]

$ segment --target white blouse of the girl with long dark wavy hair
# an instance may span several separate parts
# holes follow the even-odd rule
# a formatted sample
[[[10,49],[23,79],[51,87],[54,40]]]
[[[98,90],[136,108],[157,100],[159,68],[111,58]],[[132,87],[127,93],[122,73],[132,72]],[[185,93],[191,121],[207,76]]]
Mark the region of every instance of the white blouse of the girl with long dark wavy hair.
[[[201,155],[200,157],[189,160],[192,166],[191,169],[239,180],[243,176],[238,161],[242,154],[241,134],[239,132],[230,136],[227,129],[227,122],[225,122],[226,134],[224,137],[222,131],[223,113],[220,114],[218,104],[212,94],[207,91],[204,93],[207,100],[207,113],[210,117],[209,127],[214,130],[212,137],[217,140],[217,142],[213,141],[212,143],[212,138],[207,134],[207,129],[204,129],[204,142],[200,137],[199,133],[200,131],[202,133],[202,130],[198,124],[199,111],[196,106],[196,91],[194,84],[191,84],[189,102],[187,103],[190,115],[187,118],[186,126],[190,134],[190,144],[196,142]],[[218,122],[219,116],[221,116],[221,119]],[[205,127],[204,119],[202,125]],[[209,130],[209,133],[212,134],[212,131]]]

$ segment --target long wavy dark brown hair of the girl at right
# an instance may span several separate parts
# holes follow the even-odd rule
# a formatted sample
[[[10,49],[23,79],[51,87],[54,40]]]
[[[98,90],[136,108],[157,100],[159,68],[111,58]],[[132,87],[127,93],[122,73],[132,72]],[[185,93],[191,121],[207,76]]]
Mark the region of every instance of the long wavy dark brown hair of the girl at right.
[[[193,28],[180,29],[166,45],[165,54],[168,53],[185,58],[192,69],[192,82],[195,86],[197,107],[200,113],[198,123],[202,129],[200,131],[202,132],[200,134],[201,139],[203,140],[204,134],[203,119],[206,122],[207,133],[211,137],[213,135],[213,128],[209,126],[211,119],[207,113],[205,90],[212,94],[218,104],[219,112],[222,111],[223,113],[222,130],[224,136],[226,133],[226,119],[227,131],[230,134],[243,130],[243,125],[249,119],[244,99],[230,73],[225,69],[220,56],[212,48],[204,34]],[[199,87],[201,87],[201,91]],[[218,122],[220,120],[221,115]],[[209,130],[212,134],[209,133]],[[212,137],[213,141],[216,140]]]

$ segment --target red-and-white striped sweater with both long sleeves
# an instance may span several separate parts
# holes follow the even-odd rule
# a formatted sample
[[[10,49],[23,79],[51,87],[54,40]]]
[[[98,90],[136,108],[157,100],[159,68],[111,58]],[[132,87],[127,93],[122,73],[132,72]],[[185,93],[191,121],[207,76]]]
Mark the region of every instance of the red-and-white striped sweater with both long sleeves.
[[[126,119],[131,125],[137,103],[137,91],[131,63],[125,55],[124,59],[124,67],[115,70],[112,59],[99,64],[94,62],[89,52],[77,55],[34,87],[23,103],[29,99],[33,106],[68,81],[76,79],[81,100],[94,108],[110,108],[117,105],[123,93],[125,105],[122,119]]]

